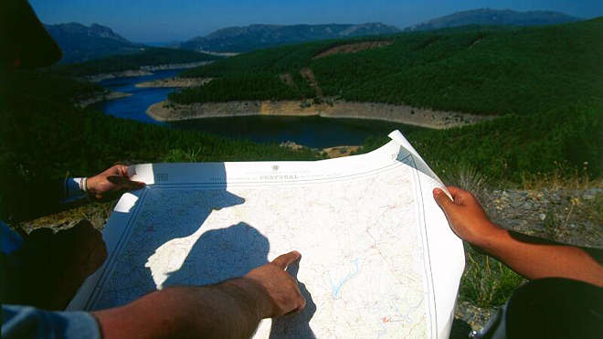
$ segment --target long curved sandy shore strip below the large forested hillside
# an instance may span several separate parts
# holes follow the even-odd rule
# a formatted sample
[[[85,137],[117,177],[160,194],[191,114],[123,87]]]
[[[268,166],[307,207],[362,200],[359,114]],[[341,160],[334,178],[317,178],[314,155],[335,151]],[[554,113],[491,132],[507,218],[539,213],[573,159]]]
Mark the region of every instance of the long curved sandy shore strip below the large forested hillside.
[[[445,129],[490,120],[480,116],[453,111],[419,109],[406,105],[336,101],[302,107],[302,101],[229,101],[180,105],[158,102],[146,111],[159,122],[174,122],[200,118],[236,117],[249,115],[288,115],[325,118],[352,118],[401,122],[432,129]]]

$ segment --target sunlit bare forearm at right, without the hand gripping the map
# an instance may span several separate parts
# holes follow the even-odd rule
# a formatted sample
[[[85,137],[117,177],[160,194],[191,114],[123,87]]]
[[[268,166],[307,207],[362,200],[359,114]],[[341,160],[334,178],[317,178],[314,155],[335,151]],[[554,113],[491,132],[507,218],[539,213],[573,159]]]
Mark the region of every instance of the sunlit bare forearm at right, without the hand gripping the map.
[[[525,278],[563,277],[603,286],[603,266],[587,251],[503,228],[475,244]]]

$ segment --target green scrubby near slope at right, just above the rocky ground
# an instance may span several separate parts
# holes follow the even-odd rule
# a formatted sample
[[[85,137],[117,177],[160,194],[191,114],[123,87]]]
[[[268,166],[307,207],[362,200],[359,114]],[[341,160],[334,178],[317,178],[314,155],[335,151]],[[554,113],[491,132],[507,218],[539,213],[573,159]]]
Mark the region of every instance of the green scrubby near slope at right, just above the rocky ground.
[[[444,131],[417,132],[409,142],[440,175],[472,169],[492,184],[520,184],[533,175],[603,175],[603,101],[581,102],[552,111],[509,114],[490,122]],[[366,140],[359,151],[386,143]]]

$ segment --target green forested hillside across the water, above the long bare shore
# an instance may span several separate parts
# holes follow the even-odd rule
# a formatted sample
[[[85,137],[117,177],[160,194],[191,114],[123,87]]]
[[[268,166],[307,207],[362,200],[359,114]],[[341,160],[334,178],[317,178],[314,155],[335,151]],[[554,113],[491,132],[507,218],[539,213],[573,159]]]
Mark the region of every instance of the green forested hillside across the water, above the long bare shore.
[[[170,100],[313,98],[316,90],[308,86],[312,77],[319,94],[346,101],[529,114],[603,96],[600,41],[599,18],[558,26],[461,27],[262,49],[183,72],[182,77],[216,79],[171,95]],[[290,76],[294,83],[287,85],[283,79]],[[238,90],[241,84],[253,86],[253,92]]]

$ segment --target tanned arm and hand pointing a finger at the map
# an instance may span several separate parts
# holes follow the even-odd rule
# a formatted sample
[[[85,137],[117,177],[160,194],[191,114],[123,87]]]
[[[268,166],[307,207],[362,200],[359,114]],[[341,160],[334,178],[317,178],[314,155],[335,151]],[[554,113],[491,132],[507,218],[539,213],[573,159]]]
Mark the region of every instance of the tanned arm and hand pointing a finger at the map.
[[[104,339],[249,338],[261,319],[305,306],[297,281],[285,271],[299,258],[293,251],[242,278],[155,291],[92,314]]]

